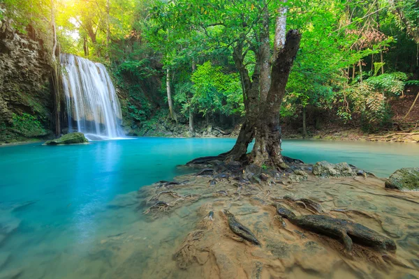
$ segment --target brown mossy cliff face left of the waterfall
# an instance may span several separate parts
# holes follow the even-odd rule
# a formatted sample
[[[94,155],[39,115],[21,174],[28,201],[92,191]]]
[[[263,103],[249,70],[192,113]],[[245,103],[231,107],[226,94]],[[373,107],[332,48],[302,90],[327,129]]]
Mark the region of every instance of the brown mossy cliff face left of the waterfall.
[[[50,135],[54,107],[50,63],[35,31],[15,31],[0,21],[0,142]]]

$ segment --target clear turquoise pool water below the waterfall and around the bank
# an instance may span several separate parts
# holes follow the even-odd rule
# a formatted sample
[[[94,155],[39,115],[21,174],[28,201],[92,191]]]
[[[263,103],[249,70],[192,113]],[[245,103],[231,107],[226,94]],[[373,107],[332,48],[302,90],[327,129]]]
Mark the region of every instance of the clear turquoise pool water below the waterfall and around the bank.
[[[82,264],[99,257],[92,252],[98,243],[142,218],[131,211],[115,213],[109,205],[119,195],[182,174],[176,165],[228,151],[234,142],[138,138],[1,147],[0,278],[10,272],[21,272],[22,278],[73,278],[76,269],[83,269],[79,273],[86,278],[101,278],[108,262]],[[378,176],[419,165],[416,144],[288,140],[283,149],[286,156],[306,163],[345,161]],[[147,239],[147,227],[141,226]]]

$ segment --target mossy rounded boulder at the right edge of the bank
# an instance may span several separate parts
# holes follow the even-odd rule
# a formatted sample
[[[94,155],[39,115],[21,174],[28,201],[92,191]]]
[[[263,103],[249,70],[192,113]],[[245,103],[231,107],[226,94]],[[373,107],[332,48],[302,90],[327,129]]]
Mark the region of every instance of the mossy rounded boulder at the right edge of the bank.
[[[397,190],[419,189],[419,167],[404,167],[397,169],[385,181],[385,188]]]

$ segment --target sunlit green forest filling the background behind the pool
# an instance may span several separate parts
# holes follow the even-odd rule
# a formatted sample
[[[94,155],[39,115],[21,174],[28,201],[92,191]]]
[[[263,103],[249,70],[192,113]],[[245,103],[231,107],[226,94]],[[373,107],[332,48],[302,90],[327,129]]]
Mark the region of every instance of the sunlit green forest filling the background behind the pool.
[[[3,21],[36,33],[50,57],[54,47],[109,69],[128,135],[237,134],[251,114],[245,81],[260,83],[262,99],[270,82],[281,13],[286,29],[302,34],[280,104],[285,133],[411,131],[418,123],[415,0],[2,2]],[[27,117],[52,130],[65,117],[23,113],[16,125]]]

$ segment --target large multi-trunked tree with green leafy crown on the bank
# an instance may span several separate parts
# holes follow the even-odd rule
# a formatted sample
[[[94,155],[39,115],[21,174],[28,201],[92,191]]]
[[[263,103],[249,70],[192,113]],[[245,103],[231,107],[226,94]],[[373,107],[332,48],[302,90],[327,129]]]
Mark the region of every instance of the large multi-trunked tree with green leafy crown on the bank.
[[[235,146],[218,157],[248,158],[260,166],[280,167],[283,160],[279,108],[301,38],[296,30],[286,35],[284,2],[179,0],[159,2],[157,6],[162,11],[158,14],[177,22],[178,30],[203,33],[207,43],[212,42],[214,48],[224,48],[233,56],[242,83],[245,115]],[[275,37],[273,55],[271,29]],[[247,156],[253,139],[256,144]]]

